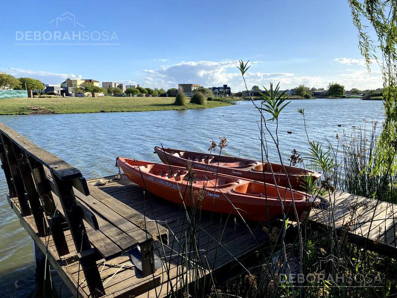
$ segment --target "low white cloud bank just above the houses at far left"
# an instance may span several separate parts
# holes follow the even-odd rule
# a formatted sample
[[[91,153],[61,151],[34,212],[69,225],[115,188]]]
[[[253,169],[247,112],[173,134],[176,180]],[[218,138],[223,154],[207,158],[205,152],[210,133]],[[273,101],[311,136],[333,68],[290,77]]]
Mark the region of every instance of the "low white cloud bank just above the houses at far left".
[[[68,77],[71,79],[78,79],[82,77],[81,74],[59,74],[45,71],[25,70],[20,68],[1,69],[0,71],[5,72],[6,74],[12,74],[15,77],[33,77],[35,79],[41,80],[45,84],[60,84]]]

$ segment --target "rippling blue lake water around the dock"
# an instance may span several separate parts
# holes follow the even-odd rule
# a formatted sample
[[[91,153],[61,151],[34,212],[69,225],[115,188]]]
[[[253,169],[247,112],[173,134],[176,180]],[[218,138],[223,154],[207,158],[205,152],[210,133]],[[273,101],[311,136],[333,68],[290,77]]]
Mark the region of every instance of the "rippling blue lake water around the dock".
[[[284,158],[294,148],[302,155],[308,149],[298,108],[305,109],[310,138],[320,141],[325,136],[334,140],[335,131],[349,131],[363,119],[383,118],[382,101],[292,100],[280,119]],[[0,122],[65,159],[87,179],[117,174],[117,156],[158,161],[153,154],[156,145],[206,151],[211,140],[218,142],[222,136],[228,140],[225,154],[261,159],[258,120],[259,112],[250,101],[186,111],[0,116]],[[270,156],[277,160],[273,150]],[[0,171],[0,295],[29,297],[36,287],[32,240],[9,207],[6,192]]]

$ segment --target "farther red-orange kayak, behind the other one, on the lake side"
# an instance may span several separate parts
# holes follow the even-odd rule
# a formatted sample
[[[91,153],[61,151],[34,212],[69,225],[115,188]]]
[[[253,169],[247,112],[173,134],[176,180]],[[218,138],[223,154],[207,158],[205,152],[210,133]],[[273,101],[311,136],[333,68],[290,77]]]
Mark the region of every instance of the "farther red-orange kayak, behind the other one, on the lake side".
[[[283,187],[289,187],[289,179],[292,189],[296,190],[304,191],[306,189],[306,176],[312,175],[313,182],[321,177],[320,173],[295,166],[284,165],[284,170],[282,165],[278,163],[263,163],[258,160],[170,148],[163,150],[158,146],[154,147],[154,151],[160,157],[161,161],[166,164],[185,166],[188,161],[192,161],[193,168],[195,169],[217,172],[248,180],[265,181],[266,183],[277,184]],[[271,170],[274,173],[275,183]]]

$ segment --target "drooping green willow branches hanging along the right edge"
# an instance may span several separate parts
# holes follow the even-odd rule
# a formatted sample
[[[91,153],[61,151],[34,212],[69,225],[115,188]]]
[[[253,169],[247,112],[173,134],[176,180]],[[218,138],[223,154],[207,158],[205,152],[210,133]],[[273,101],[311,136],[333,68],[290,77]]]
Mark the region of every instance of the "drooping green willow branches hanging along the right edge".
[[[358,29],[359,46],[367,69],[378,61],[383,78],[385,120],[373,154],[371,174],[397,173],[397,0],[349,1],[353,24]],[[376,35],[375,41],[371,36]],[[377,57],[382,57],[379,59]]]

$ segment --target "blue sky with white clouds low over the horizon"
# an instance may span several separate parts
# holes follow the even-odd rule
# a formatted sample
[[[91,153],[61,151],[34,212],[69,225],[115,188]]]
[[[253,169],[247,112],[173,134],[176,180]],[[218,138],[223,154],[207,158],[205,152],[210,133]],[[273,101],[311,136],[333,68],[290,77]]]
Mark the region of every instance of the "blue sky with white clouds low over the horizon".
[[[280,82],[382,87],[369,73],[347,0],[3,1],[0,71],[46,84],[67,77],[151,88]]]

